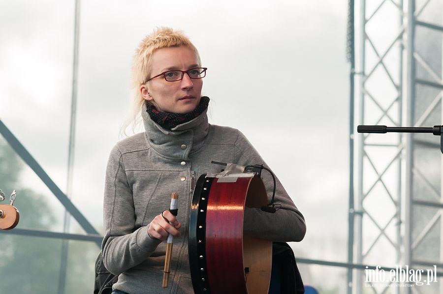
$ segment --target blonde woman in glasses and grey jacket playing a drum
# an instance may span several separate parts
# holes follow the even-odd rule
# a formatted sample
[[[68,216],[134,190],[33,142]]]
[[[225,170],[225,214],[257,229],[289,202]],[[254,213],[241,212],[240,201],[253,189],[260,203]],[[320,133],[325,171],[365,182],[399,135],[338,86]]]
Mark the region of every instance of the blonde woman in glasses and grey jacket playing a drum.
[[[133,86],[145,132],[117,143],[106,170],[102,253],[106,268],[119,275],[113,293],[192,293],[187,246],[196,178],[220,172],[211,161],[263,164],[238,130],[208,123],[209,98],[201,96],[205,74],[197,49],[179,31],[157,29],[136,51]],[[273,181],[266,176],[272,195]],[[164,211],[172,192],[180,195],[177,217]],[[275,213],[245,210],[245,234],[301,241],[303,215],[278,180],[275,203]],[[174,246],[169,287],[163,289],[162,241],[168,234]]]

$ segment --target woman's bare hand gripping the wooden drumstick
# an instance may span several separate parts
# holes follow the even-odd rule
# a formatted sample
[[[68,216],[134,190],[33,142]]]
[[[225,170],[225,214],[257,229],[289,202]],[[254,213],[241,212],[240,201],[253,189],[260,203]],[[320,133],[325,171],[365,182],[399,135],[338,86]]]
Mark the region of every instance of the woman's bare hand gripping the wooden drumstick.
[[[148,235],[159,240],[166,240],[169,234],[180,237],[182,233],[178,229],[182,227],[182,224],[177,221],[177,218],[169,210],[163,211],[162,214],[157,215],[149,224]]]

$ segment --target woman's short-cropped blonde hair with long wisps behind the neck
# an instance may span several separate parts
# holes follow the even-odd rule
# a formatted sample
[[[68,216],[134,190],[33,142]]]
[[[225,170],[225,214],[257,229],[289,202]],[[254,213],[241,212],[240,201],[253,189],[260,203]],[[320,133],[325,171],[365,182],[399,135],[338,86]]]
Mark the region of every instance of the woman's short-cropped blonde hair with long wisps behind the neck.
[[[132,131],[140,121],[140,111],[145,99],[143,98],[140,86],[151,76],[151,57],[153,53],[161,48],[186,46],[195,52],[198,65],[201,66],[200,55],[197,48],[191,43],[181,30],[174,30],[167,27],[161,27],[154,30],[152,34],[147,35],[135,50],[135,55],[131,67],[131,84],[133,91],[133,117],[122,126],[121,133],[126,135],[126,128],[133,122]],[[148,101],[148,103],[153,103]]]

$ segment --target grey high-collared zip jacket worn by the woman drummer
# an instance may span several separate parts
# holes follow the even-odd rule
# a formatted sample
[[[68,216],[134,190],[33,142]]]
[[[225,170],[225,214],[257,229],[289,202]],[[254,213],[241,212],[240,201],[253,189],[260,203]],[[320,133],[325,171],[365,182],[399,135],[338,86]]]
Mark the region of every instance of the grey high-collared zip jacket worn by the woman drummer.
[[[114,289],[129,294],[193,293],[188,258],[189,215],[196,179],[218,173],[220,165],[263,164],[263,159],[238,130],[211,125],[206,112],[166,130],[142,110],[145,132],[128,137],[112,149],[104,192],[103,262],[119,275]],[[262,173],[269,199],[273,181]],[[171,194],[179,194],[169,287],[161,288],[166,241],[148,235],[155,216],[168,209]],[[303,215],[277,179],[275,213],[245,209],[244,233],[273,241],[301,241],[306,232]]]

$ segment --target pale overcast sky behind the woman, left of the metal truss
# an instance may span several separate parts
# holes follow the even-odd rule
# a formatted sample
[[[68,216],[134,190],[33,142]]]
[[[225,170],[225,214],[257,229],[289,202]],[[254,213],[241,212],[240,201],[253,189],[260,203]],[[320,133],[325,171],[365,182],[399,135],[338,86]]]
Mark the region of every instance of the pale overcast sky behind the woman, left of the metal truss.
[[[210,122],[240,129],[305,215],[296,255],[346,261],[347,0],[84,0],[80,8],[72,201],[99,232],[107,158],[130,113],[132,55],[146,34],[169,26],[185,31],[208,67]],[[0,1],[0,26],[0,119],[65,191],[74,1]],[[60,206],[32,172],[25,178],[23,188]]]

